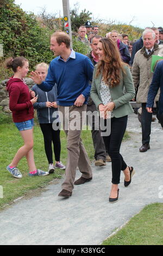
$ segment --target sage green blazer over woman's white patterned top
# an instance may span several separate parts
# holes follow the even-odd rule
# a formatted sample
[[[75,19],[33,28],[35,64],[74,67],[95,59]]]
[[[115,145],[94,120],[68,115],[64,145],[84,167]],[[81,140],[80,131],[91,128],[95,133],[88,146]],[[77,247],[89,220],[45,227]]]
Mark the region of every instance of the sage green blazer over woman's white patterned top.
[[[99,104],[103,104],[101,95],[99,93],[99,88],[102,80],[102,73],[96,78],[97,65],[93,71],[93,79],[91,86],[91,98],[95,103],[97,109]],[[115,108],[112,110],[116,118],[124,117],[130,113],[133,113],[133,108],[131,107],[129,101],[135,97],[135,88],[133,83],[133,78],[131,76],[130,69],[127,65],[124,65],[124,72],[122,72],[122,79],[120,84],[114,88],[110,88],[111,101],[115,103]]]

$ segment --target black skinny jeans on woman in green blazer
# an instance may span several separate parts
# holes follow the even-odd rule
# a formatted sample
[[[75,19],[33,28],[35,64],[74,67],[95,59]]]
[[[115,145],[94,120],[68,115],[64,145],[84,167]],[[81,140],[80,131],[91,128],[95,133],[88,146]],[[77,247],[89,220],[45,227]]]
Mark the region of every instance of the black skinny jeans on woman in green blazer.
[[[128,115],[120,118],[111,118],[110,135],[103,136],[105,148],[111,157],[112,184],[120,183],[121,170],[125,170],[127,168],[127,164],[124,162],[123,157],[120,154],[122,139],[127,127],[127,119]],[[108,127],[108,129],[110,129],[110,127]]]

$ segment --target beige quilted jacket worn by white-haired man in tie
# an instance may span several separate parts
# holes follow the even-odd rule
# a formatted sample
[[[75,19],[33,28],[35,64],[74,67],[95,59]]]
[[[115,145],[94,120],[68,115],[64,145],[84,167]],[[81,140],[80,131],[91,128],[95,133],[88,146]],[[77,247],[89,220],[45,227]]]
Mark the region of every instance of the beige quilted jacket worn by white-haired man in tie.
[[[135,88],[139,85],[137,90],[137,103],[147,102],[147,95],[149,86],[152,82],[153,73],[151,72],[152,54],[160,55],[162,45],[155,44],[151,54],[147,54],[146,48],[143,46],[141,50],[137,51],[132,66],[132,76]],[[155,101],[159,100],[159,92],[155,97]]]

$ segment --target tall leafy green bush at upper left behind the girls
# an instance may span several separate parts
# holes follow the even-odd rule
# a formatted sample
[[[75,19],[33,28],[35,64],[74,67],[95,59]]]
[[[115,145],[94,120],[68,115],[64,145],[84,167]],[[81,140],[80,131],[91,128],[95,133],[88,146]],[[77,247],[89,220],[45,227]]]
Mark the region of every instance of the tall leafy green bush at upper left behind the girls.
[[[0,8],[0,31],[4,58],[24,56],[29,60],[32,69],[36,63],[51,61],[51,31],[46,27],[40,27],[33,13],[27,14],[12,0]]]

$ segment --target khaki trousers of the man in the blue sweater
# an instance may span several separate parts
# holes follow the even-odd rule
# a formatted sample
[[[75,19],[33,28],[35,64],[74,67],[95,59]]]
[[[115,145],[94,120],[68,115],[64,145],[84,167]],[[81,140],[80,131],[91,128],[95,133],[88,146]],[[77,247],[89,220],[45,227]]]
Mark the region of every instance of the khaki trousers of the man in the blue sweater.
[[[84,119],[82,117],[83,113],[86,114],[86,105],[82,107],[58,106],[58,109],[61,123],[63,122],[63,128],[67,135],[66,174],[65,180],[62,183],[62,189],[71,192],[74,187],[77,167],[82,173],[83,178],[89,179],[92,177],[91,163],[80,138],[82,121]]]

